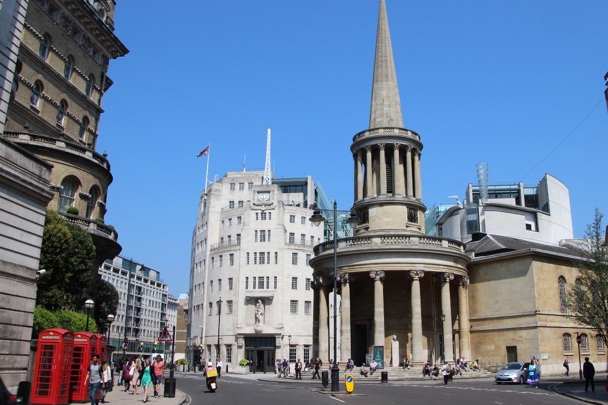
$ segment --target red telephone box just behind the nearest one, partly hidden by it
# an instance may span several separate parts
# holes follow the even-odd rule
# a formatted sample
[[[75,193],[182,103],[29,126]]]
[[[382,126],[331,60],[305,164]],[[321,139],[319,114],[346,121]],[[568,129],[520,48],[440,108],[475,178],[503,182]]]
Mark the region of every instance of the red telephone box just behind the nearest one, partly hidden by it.
[[[69,402],[86,401],[89,389],[85,386],[86,373],[93,355],[97,352],[97,334],[76,332],[74,334],[74,350],[70,364]],[[100,359],[101,361],[101,359]]]

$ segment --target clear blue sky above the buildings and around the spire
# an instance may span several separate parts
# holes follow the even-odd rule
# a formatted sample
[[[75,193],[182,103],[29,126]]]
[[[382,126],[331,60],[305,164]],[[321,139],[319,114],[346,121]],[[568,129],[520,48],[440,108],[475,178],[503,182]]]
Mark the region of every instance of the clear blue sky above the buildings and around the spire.
[[[608,214],[605,2],[386,2],[428,207],[464,197],[487,162],[490,183],[562,180],[576,237],[595,207]],[[204,187],[206,158],[195,156],[209,143],[210,179],[241,169],[244,154],[263,168],[272,126],[275,173],[311,174],[350,208],[378,1],[167,4],[118,1],[115,33],[131,52],[110,64],[98,151],[112,165],[106,223],[122,255],[161,271],[177,295]]]

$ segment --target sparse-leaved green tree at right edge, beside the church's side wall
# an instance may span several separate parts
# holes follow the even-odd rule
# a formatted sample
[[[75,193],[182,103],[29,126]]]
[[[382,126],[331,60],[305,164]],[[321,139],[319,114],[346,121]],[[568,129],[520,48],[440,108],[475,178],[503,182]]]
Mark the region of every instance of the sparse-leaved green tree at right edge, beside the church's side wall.
[[[588,258],[576,261],[579,276],[568,289],[566,318],[589,326],[606,343],[608,336],[608,248],[603,233],[603,214],[595,209],[593,223],[587,226]]]

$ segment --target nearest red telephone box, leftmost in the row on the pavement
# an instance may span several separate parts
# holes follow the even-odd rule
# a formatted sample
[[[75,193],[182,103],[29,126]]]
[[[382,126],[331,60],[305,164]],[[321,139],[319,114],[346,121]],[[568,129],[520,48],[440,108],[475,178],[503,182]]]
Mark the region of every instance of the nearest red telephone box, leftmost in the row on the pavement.
[[[38,335],[32,404],[67,404],[74,333],[47,329]]]

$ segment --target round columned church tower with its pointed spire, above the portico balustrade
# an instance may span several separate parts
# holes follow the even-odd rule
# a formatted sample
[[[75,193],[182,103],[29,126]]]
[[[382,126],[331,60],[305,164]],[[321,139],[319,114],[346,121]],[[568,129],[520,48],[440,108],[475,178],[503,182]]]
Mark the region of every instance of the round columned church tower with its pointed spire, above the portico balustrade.
[[[353,137],[355,234],[407,230],[424,234],[420,135],[404,128],[384,0],[371,89],[370,126]]]

